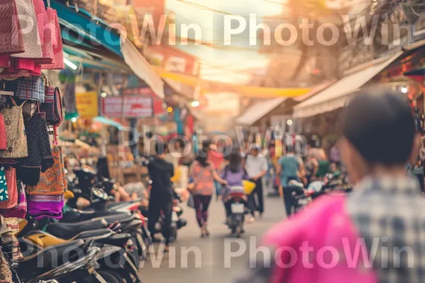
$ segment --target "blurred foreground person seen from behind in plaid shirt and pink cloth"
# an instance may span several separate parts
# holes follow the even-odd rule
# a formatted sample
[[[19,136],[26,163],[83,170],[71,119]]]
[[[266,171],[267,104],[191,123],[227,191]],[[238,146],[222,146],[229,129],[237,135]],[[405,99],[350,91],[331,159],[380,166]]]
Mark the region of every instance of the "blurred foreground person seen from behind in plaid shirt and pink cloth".
[[[261,261],[251,262],[261,267],[237,282],[424,281],[425,197],[405,172],[417,158],[420,137],[407,98],[376,87],[356,93],[342,132],[341,161],[353,192],[320,197],[268,231],[261,246],[280,253],[261,253]],[[327,264],[314,256],[320,250],[335,252],[328,253]]]

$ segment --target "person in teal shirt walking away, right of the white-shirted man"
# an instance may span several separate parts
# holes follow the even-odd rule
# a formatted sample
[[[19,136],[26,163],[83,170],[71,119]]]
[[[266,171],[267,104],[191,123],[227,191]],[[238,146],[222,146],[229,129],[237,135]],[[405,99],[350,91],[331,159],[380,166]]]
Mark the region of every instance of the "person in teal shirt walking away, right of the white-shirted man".
[[[289,185],[290,180],[300,182],[299,178],[300,162],[295,157],[293,146],[288,145],[285,156],[278,161],[276,173],[280,176],[279,195],[283,197],[285,204],[286,216],[292,214],[293,208],[293,188]]]

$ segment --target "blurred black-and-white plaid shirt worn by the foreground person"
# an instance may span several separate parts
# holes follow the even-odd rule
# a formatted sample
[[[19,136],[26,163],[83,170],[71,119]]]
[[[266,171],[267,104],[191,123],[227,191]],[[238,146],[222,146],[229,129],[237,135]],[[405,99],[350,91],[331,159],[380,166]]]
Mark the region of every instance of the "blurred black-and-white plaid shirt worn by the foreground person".
[[[424,207],[425,197],[411,176],[365,178],[346,198],[346,212],[364,238],[380,283],[424,282]],[[256,265],[236,282],[270,282],[270,260],[271,267]]]

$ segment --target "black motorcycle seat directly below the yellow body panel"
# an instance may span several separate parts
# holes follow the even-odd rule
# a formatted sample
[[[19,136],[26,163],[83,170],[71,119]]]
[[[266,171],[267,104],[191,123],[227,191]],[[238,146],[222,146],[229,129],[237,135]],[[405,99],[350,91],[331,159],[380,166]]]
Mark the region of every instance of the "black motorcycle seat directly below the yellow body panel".
[[[76,260],[75,257],[79,256],[78,252],[83,246],[83,240],[76,240],[42,249],[38,253],[19,260],[19,269],[25,270],[26,274],[50,270],[52,266],[60,266],[64,262]]]

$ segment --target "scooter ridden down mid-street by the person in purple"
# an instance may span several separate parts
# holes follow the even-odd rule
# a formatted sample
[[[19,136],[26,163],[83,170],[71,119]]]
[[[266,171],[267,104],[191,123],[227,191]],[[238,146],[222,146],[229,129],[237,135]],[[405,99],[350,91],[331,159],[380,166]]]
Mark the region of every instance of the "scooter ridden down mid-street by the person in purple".
[[[231,214],[227,217],[227,226],[232,231],[232,236],[239,238],[244,233],[244,221],[246,213],[246,197],[244,187],[230,187],[230,199],[225,203],[230,207]]]

